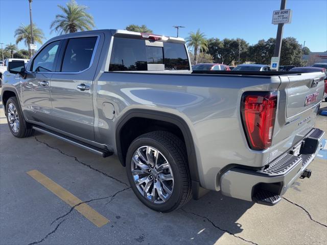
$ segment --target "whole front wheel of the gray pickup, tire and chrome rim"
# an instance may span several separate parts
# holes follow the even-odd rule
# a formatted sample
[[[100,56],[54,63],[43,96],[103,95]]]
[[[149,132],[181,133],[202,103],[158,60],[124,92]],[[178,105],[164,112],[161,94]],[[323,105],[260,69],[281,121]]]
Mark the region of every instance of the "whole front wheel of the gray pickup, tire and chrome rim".
[[[28,137],[33,133],[32,127],[25,121],[16,97],[10,97],[6,104],[8,126],[17,138]]]

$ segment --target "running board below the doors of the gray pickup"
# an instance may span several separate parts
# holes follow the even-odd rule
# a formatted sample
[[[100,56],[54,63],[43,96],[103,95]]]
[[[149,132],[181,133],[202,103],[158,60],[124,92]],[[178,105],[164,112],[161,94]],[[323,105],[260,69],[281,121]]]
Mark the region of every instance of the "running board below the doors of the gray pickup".
[[[98,154],[98,155],[100,155],[102,157],[109,157],[109,156],[111,156],[113,154],[113,152],[96,148],[96,147],[94,147],[92,145],[82,143],[80,141],[77,141],[75,139],[66,137],[66,136],[61,135],[61,134],[57,134],[57,133],[55,133],[55,132],[53,132],[51,130],[48,130],[48,129],[40,128],[40,127],[37,127],[37,126],[33,126],[33,129],[35,129],[36,131],[39,131],[41,133],[44,133],[44,134],[49,134],[49,135],[51,135],[53,137],[56,137],[57,139],[61,139],[61,140],[66,141],[68,143],[79,146],[80,148],[83,148],[83,149],[85,149],[87,151]]]

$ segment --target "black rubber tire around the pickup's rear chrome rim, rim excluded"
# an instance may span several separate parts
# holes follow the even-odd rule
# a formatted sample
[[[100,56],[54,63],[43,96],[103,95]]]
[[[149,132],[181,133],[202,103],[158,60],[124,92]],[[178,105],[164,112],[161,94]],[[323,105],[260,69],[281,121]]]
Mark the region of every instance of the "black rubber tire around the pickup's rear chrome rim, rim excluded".
[[[174,188],[170,198],[161,204],[149,201],[137,189],[132,175],[132,157],[141,146],[148,145],[157,149],[168,160],[174,179]],[[126,156],[128,181],[137,198],[149,208],[159,212],[171,212],[190,201],[192,197],[191,177],[186,158],[184,143],[174,134],[166,131],[154,131],[137,137],[129,146]]]

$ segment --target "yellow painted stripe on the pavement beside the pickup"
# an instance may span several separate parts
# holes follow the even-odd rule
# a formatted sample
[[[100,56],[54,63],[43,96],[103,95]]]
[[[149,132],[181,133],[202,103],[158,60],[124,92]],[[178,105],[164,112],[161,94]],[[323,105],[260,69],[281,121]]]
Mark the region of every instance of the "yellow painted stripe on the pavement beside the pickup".
[[[45,188],[56,194],[62,201],[64,201],[69,206],[74,207],[75,205],[83,202],[79,198],[75,197],[75,195],[73,195],[71,192],[64,189],[56,182],[43,175],[40,171],[31,170],[28,171],[27,174],[33,179],[35,179],[37,182],[39,182],[41,185],[43,185]],[[76,206],[75,209],[79,211],[82,215],[84,215],[88,220],[90,220],[90,222],[95,224],[97,227],[102,227],[109,222],[106,217],[102,216],[100,213],[98,213],[96,210],[92,209],[85,203]]]

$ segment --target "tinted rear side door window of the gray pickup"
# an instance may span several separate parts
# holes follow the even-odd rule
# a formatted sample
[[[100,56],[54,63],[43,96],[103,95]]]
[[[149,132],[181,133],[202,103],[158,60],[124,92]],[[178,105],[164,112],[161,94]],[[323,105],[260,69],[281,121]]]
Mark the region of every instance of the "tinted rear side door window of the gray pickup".
[[[62,61],[62,72],[79,72],[91,65],[98,37],[80,37],[68,40]]]

